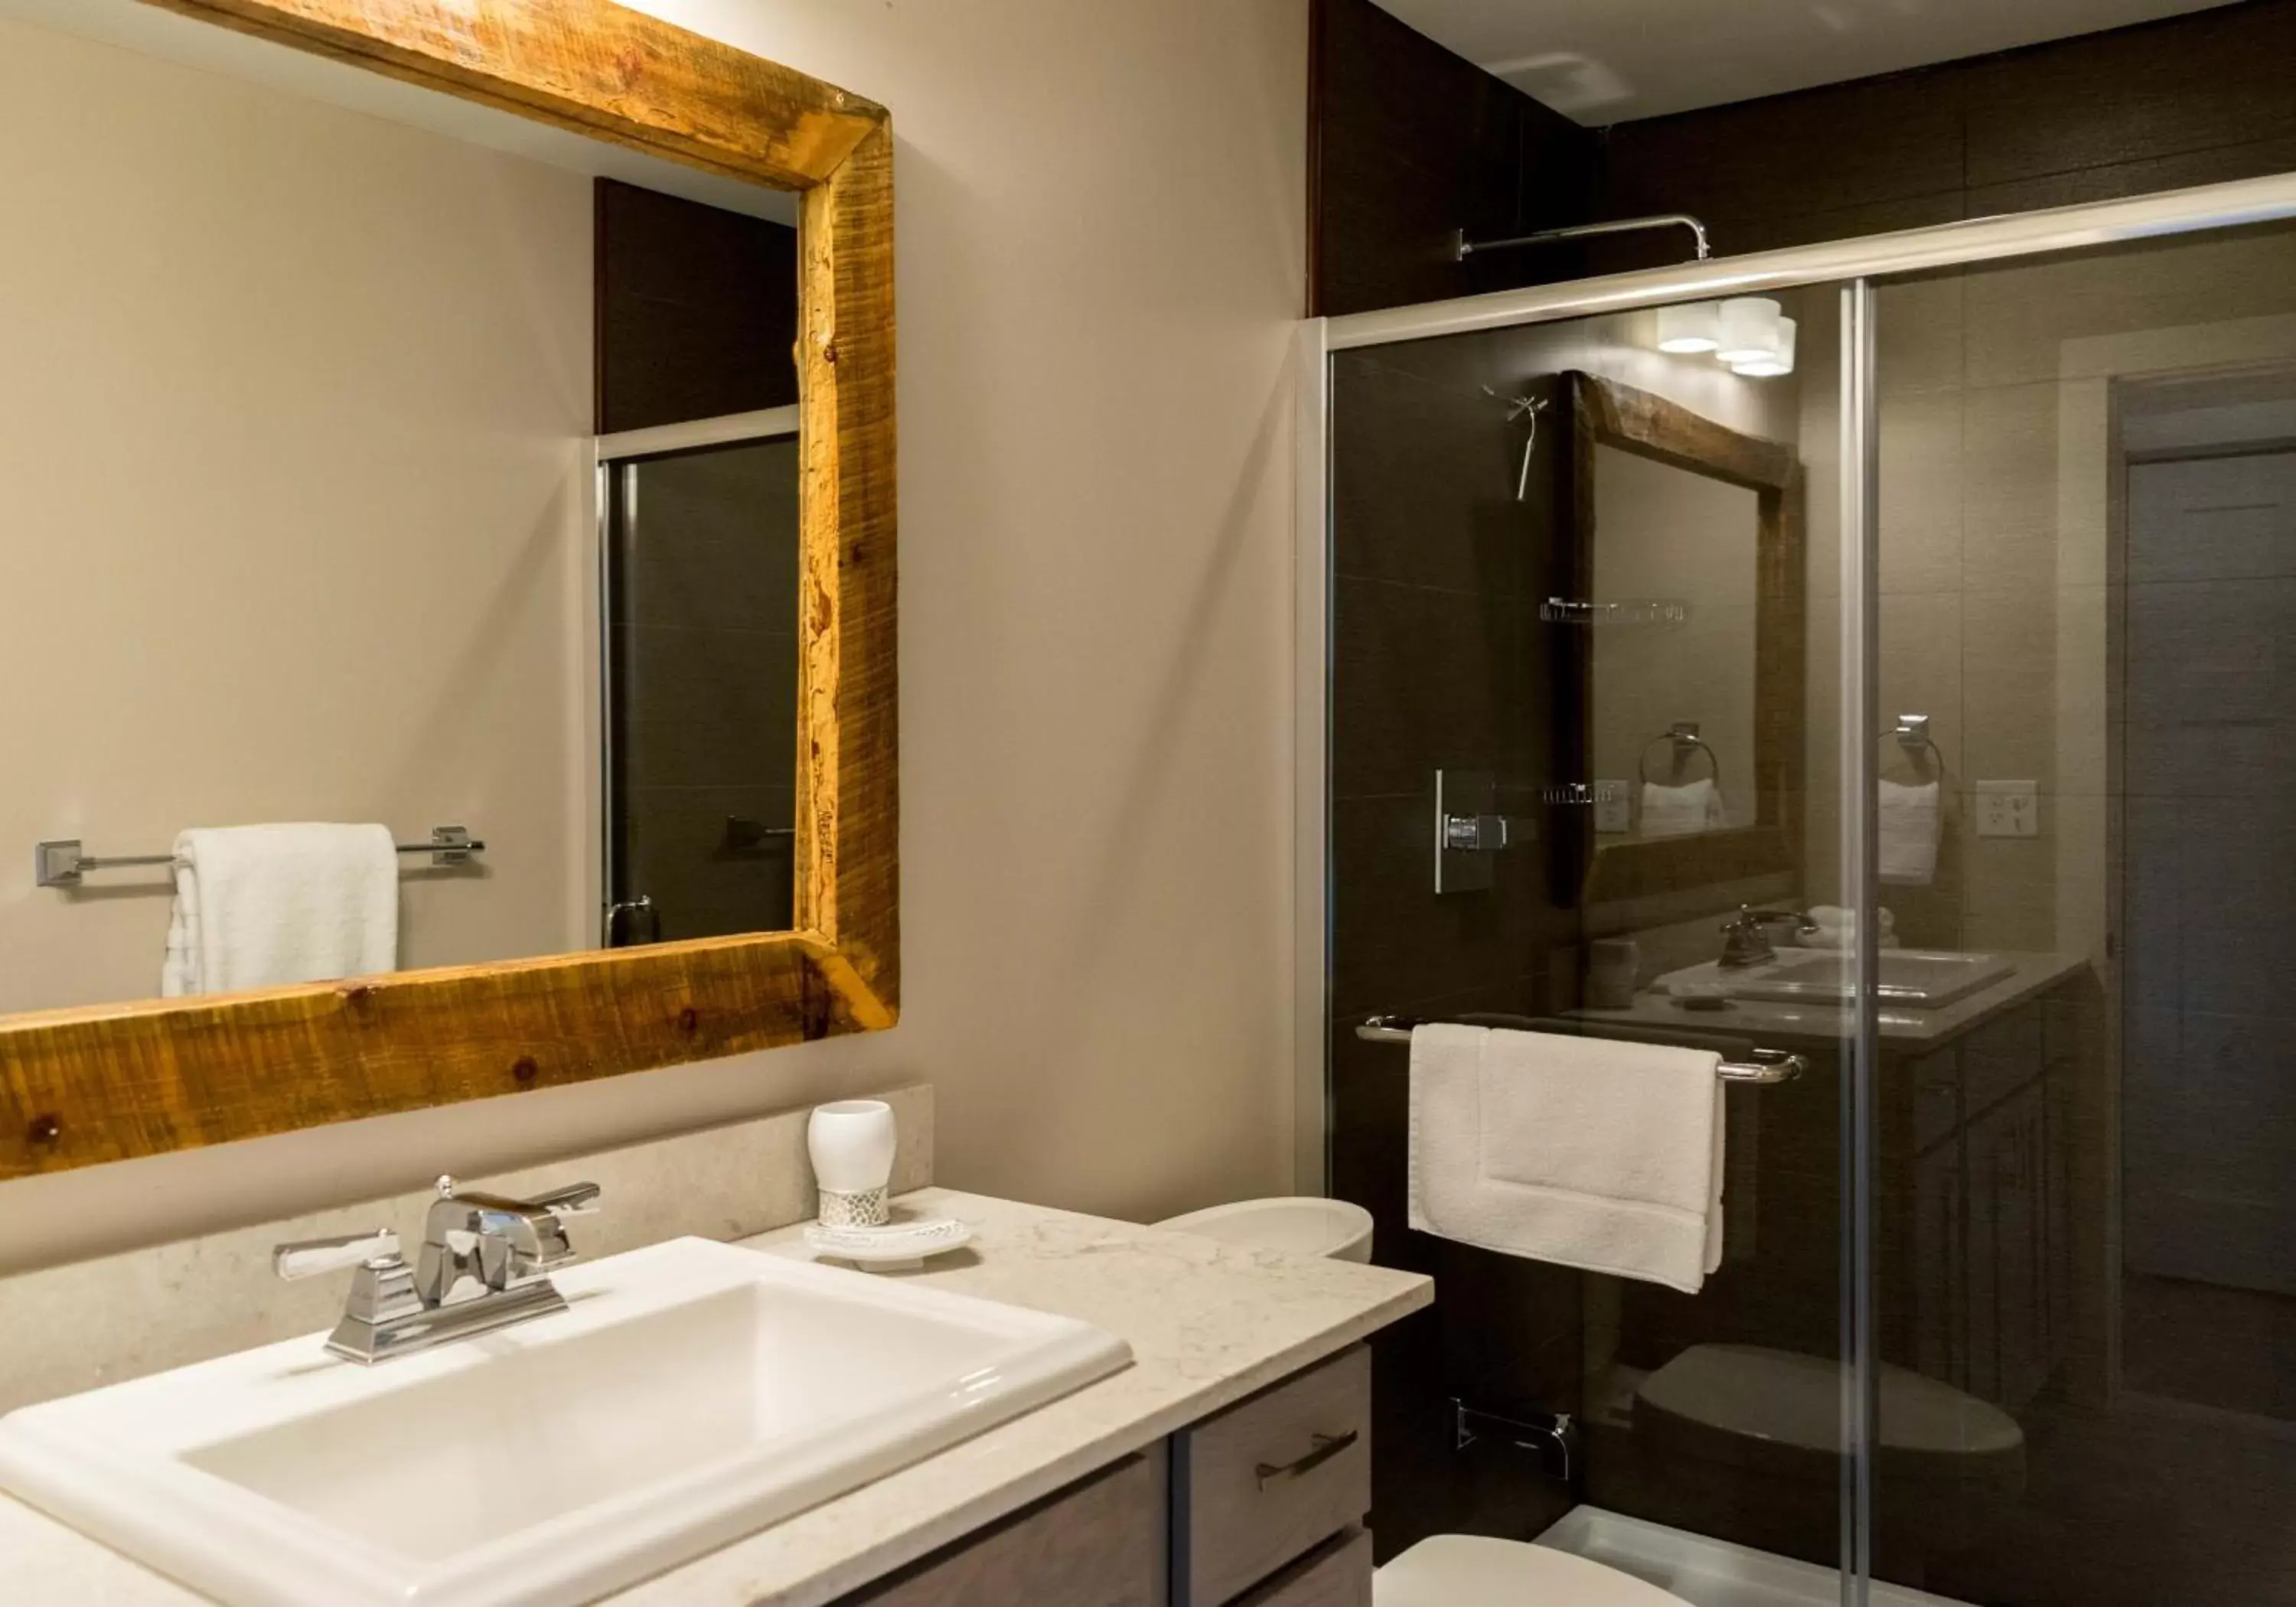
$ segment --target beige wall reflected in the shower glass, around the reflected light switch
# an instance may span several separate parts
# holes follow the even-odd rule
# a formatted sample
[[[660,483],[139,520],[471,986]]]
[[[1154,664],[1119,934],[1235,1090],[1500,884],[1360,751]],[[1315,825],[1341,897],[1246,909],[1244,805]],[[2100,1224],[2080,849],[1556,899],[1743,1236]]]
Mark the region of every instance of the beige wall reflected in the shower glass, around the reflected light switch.
[[[1945,755],[1938,879],[1883,886],[1908,941],[2105,966],[2119,817],[2112,388],[2296,354],[2296,232],[2172,239],[1880,289],[1880,702]],[[1835,886],[1837,331],[1802,321],[1812,461],[1812,836]],[[1878,732],[1876,732],[1878,737]],[[1913,771],[1876,744],[1883,774]],[[2032,781],[2034,838],[1975,833],[1977,781]]]

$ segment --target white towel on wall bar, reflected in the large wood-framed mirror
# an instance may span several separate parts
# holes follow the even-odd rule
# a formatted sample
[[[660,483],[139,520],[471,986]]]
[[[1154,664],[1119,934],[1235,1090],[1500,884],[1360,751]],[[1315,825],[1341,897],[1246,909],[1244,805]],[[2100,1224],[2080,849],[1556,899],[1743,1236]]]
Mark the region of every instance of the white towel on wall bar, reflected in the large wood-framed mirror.
[[[223,826],[174,840],[161,994],[374,976],[400,964],[400,856],[383,826]]]

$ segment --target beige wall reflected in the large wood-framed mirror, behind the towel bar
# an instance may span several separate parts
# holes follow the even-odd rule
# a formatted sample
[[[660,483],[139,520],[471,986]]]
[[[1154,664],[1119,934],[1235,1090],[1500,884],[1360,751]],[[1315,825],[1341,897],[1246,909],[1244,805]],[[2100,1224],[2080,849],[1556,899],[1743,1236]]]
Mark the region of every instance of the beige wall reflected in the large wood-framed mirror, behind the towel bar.
[[[402,962],[567,948],[588,184],[16,21],[0,147],[0,1012],[158,992],[39,838],[459,822]]]

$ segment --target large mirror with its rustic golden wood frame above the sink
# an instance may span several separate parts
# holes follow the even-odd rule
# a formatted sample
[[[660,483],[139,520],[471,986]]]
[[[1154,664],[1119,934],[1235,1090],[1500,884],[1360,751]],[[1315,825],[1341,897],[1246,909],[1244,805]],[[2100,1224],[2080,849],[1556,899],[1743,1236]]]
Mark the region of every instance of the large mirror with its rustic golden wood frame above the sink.
[[[606,0],[0,62],[0,1175],[889,1026],[886,112]]]

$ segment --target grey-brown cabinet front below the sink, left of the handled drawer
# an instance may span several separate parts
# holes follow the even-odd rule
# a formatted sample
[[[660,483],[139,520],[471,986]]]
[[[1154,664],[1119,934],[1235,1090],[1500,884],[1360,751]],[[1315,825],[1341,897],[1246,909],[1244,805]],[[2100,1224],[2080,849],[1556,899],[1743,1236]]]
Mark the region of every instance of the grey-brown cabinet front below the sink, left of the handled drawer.
[[[1164,1458],[1132,1455],[838,1607],[1164,1607]]]

